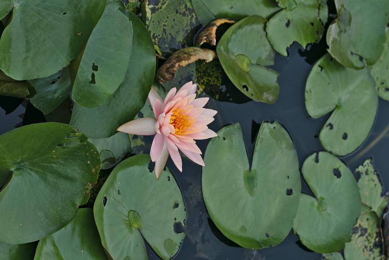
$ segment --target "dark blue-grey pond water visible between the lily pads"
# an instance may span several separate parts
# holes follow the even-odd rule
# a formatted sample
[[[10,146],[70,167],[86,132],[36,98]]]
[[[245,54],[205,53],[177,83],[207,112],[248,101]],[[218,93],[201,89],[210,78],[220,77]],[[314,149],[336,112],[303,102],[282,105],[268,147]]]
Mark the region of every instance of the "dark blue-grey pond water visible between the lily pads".
[[[319,50],[319,51],[318,51]],[[279,121],[291,135],[299,156],[300,165],[305,158],[323,148],[318,133],[329,115],[320,119],[308,116],[304,105],[304,88],[312,64],[325,51],[325,46],[314,46],[310,52],[303,52],[297,44],[290,49],[288,58],[276,56],[272,67],[280,73],[280,96],[275,104],[257,102],[235,104],[211,99],[208,107],[218,110],[210,128],[218,131],[221,127],[239,122],[246,142],[248,157],[251,161],[255,137],[262,121]],[[228,88],[226,91],[229,91]],[[236,92],[234,91],[234,94]],[[240,96],[239,96],[240,95]],[[238,93],[234,99],[246,101]],[[16,126],[44,121],[44,118],[26,101],[0,97],[0,134]],[[27,112],[26,112],[27,106]],[[16,108],[16,109],[15,109]],[[6,111],[10,112],[6,115]],[[24,114],[25,113],[25,114]],[[24,114],[24,115],[23,115]],[[24,122],[23,122],[24,121]],[[209,140],[198,141],[205,152]],[[369,138],[353,154],[341,159],[354,171],[364,160],[372,157],[374,165],[381,174],[385,187],[389,186],[389,102],[380,99],[377,117]],[[298,237],[292,232],[279,245],[262,250],[241,248],[225,238],[214,226],[202,199],[201,167],[183,159],[183,173],[179,173],[171,159],[168,168],[175,175],[183,193],[188,218],[187,233],[176,260],[319,260],[320,254],[310,252],[301,246]],[[301,178],[302,179],[302,178]],[[302,192],[311,193],[302,179]],[[341,198],[339,198],[341,199]],[[270,202],[271,203],[271,202]],[[260,221],[260,220],[259,220]],[[150,260],[159,257],[147,246]]]

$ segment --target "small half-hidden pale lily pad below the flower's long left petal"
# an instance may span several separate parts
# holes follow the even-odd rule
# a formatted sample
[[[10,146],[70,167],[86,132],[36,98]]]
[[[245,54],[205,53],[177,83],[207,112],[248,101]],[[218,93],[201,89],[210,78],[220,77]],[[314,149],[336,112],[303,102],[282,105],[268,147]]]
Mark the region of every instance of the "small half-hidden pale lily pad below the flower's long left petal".
[[[117,133],[109,138],[89,139],[100,153],[101,169],[109,169],[118,164],[131,151],[130,139],[125,133]]]

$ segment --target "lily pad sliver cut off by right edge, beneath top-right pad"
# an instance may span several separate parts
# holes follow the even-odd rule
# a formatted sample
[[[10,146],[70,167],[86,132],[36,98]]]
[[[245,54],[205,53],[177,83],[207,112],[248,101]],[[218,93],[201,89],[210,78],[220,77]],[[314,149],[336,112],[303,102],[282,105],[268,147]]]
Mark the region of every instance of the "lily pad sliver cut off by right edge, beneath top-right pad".
[[[386,31],[386,43],[380,59],[371,66],[371,76],[375,80],[378,95],[389,101],[389,29]]]

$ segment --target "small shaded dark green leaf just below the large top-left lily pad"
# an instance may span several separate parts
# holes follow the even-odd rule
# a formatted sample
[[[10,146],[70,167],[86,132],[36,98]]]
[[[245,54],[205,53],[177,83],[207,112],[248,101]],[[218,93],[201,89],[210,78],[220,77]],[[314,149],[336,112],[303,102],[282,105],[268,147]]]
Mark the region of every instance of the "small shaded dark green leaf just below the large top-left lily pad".
[[[30,98],[31,104],[47,115],[57,108],[71,92],[69,69],[63,69],[47,78],[30,80],[30,84],[36,92],[34,97]]]

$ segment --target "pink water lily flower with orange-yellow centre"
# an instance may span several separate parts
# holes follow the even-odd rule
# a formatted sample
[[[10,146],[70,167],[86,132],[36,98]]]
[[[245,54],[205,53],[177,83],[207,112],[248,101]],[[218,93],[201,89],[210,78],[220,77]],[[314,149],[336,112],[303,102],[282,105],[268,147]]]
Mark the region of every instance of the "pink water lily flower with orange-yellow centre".
[[[209,98],[196,99],[196,85],[186,83],[178,91],[174,87],[162,100],[151,88],[148,96],[155,118],[140,118],[129,121],[118,131],[133,135],[155,135],[150,156],[155,162],[155,175],[159,179],[169,155],[178,170],[182,172],[181,151],[195,163],[204,166],[201,151],[195,139],[208,139],[217,134],[208,128],[217,111],[203,108]],[[176,93],[177,92],[177,93]]]

